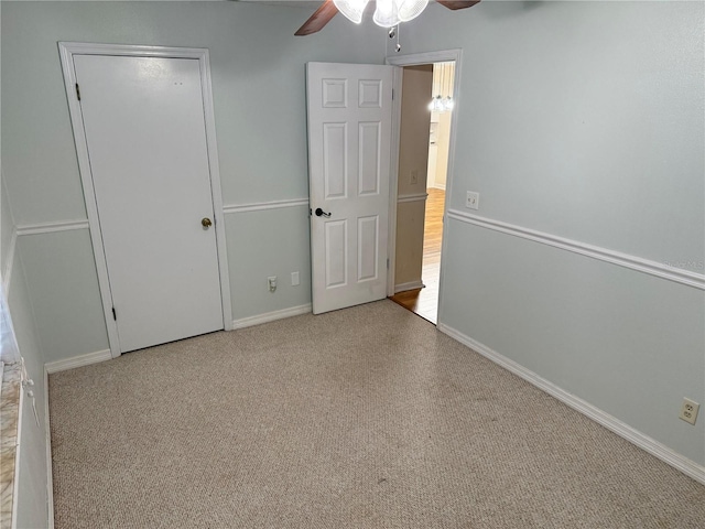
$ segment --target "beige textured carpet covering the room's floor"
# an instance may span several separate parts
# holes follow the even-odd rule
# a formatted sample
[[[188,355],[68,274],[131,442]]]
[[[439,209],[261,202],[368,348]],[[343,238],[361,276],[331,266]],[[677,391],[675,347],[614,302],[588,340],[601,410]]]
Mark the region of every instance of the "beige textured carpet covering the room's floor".
[[[50,387],[57,529],[705,527],[703,485],[389,301]]]

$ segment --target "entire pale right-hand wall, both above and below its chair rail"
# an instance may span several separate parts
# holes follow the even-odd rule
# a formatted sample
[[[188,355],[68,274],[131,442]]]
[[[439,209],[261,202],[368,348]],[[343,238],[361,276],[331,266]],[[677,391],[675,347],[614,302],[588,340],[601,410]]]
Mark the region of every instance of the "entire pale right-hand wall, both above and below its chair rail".
[[[704,8],[482,2],[405,24],[403,53],[463,50],[449,207],[702,274]],[[446,226],[442,323],[705,464],[705,421],[677,417],[705,403],[702,290]]]

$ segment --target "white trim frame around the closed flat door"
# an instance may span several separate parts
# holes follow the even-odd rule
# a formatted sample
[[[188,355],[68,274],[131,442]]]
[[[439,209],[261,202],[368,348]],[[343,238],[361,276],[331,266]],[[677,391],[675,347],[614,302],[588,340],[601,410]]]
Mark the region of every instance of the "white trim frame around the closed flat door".
[[[64,83],[68,98],[68,111],[74,129],[76,153],[78,155],[78,171],[83,184],[88,226],[93,242],[93,253],[98,271],[98,285],[102,300],[102,311],[108,330],[110,354],[115,358],[120,356],[118,326],[112,319],[112,294],[108,281],[108,264],[102,246],[102,235],[98,223],[98,204],[93,186],[90,161],[86,142],[86,131],[83,125],[80,105],[76,97],[76,72],[74,55],[119,55],[131,57],[163,57],[163,58],[195,58],[200,69],[200,88],[203,94],[204,117],[206,122],[206,142],[208,148],[208,164],[210,168],[210,192],[213,195],[213,213],[216,229],[216,248],[218,251],[218,269],[220,272],[220,298],[223,304],[223,322],[226,331],[232,328],[232,306],[230,304],[230,278],[228,274],[228,259],[225,239],[225,216],[223,212],[223,194],[220,187],[220,171],[218,168],[218,150],[216,144],[216,127],[213,107],[213,90],[210,87],[210,60],[208,50],[198,47],[163,47],[123,44],[90,44],[79,42],[59,42],[58,50],[64,72]]]

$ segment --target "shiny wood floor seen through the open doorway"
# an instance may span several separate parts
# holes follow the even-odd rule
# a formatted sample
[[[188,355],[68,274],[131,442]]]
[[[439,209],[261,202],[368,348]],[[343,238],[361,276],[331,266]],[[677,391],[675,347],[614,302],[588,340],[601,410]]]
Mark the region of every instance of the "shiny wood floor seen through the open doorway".
[[[438,282],[445,191],[431,187],[426,192],[429,198],[426,199],[424,218],[423,269],[421,272],[421,281],[425,288],[399,292],[391,300],[436,324],[438,322]]]

